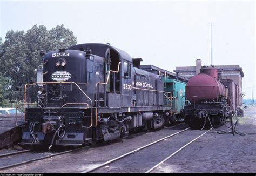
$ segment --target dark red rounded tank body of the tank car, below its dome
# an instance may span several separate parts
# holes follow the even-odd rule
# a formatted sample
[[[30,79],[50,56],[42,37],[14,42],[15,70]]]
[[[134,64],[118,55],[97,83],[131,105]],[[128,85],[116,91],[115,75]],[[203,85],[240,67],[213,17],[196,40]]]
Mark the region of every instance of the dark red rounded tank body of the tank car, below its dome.
[[[224,91],[218,79],[204,73],[191,77],[186,85],[186,97],[191,103],[217,101],[218,96],[224,96]]]

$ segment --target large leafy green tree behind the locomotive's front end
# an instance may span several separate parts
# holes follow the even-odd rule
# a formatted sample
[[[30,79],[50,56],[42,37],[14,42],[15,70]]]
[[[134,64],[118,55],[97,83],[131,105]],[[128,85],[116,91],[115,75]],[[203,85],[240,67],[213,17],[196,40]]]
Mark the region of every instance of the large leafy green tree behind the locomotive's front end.
[[[36,82],[36,69],[41,69],[42,58],[39,51],[46,52],[58,48],[68,48],[77,43],[73,32],[57,25],[47,30],[43,25],[33,25],[26,31],[10,30],[6,33],[5,42],[0,38],[0,71],[3,80],[8,79],[8,93],[0,99],[0,104],[21,101],[23,99],[24,85]],[[3,101],[3,100],[6,101]]]

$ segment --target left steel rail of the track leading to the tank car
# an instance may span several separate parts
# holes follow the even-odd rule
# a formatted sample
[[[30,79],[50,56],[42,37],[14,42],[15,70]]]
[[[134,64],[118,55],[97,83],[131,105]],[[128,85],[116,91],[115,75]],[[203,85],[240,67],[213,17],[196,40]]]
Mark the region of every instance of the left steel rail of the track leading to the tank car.
[[[113,163],[114,161],[117,161],[117,160],[119,160],[119,159],[121,159],[121,158],[124,158],[124,157],[126,157],[127,155],[130,155],[130,154],[132,154],[132,153],[134,153],[134,152],[137,152],[137,151],[139,151],[139,150],[142,150],[143,148],[149,147],[149,146],[151,146],[151,145],[153,145],[153,144],[159,143],[160,141],[162,141],[162,140],[164,140],[164,139],[170,138],[170,137],[172,137],[172,136],[175,136],[176,134],[179,134],[179,133],[184,132],[184,131],[189,130],[189,129],[190,129],[190,128],[186,128],[186,129],[181,130],[181,131],[179,131],[179,132],[177,132],[177,133],[174,133],[174,134],[171,134],[171,135],[169,135],[169,136],[167,136],[167,137],[161,138],[161,139],[159,139],[159,140],[157,140],[157,141],[154,141],[153,143],[147,144],[147,145],[145,145],[145,146],[143,146],[143,147],[137,148],[136,150],[133,150],[133,151],[128,152],[128,153],[125,153],[125,154],[123,154],[123,155],[121,155],[121,156],[119,156],[119,157],[117,157],[117,158],[114,158],[114,159],[111,159],[111,160],[109,160],[109,161],[106,161],[105,163],[103,163],[103,164],[101,164],[101,165],[99,165],[99,166],[97,166],[97,167],[95,167],[95,168],[92,168],[92,169],[89,170],[89,171],[83,171],[82,173],[89,173],[89,172],[95,171],[95,170],[97,170],[97,169],[100,168],[100,167],[103,167],[103,166],[105,166],[105,165],[107,165],[107,164]]]

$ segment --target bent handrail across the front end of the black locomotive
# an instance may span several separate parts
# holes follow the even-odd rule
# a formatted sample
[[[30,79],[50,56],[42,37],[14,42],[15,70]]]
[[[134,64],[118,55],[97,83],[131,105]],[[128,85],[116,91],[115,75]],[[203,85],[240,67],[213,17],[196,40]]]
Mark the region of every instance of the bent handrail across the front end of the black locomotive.
[[[36,83],[33,83],[33,84],[26,84],[25,85],[25,90],[24,90],[24,103],[26,104],[26,86],[27,85],[36,85],[36,84],[43,84],[43,85],[46,85],[46,84],[75,84],[78,89],[91,101],[91,125],[90,126],[83,126],[82,124],[82,127],[85,127],[85,128],[90,128],[92,127],[93,125],[93,113],[92,113],[92,100],[90,99],[90,97],[87,96],[87,94],[75,83],[75,82],[36,82]],[[87,107],[86,107],[87,108]]]

